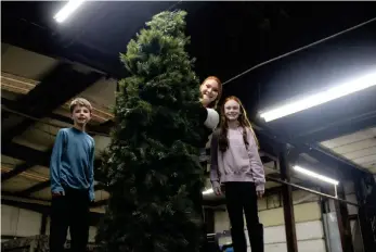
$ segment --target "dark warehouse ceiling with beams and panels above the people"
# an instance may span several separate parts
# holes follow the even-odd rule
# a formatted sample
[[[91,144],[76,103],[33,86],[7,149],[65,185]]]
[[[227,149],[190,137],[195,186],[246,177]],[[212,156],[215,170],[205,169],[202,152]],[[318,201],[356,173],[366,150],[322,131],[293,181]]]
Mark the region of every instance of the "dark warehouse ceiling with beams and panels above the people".
[[[125,51],[145,21],[174,3],[90,2],[86,14],[64,27],[50,20],[59,2],[25,2],[23,8],[16,2],[2,3],[2,198],[50,199],[50,152],[59,127],[70,124],[65,104],[75,96],[93,102],[96,117],[90,129],[98,133],[93,136],[101,143],[99,149],[107,144],[108,139],[100,134],[108,134],[112,126],[108,105],[114,104],[116,90],[116,80],[108,77],[126,75],[118,53]],[[323,4],[197,2],[179,7],[189,11],[189,50],[197,56],[197,73],[226,79],[254,63],[364,21],[375,10],[372,3],[341,3],[341,8]],[[102,12],[98,18],[92,18],[99,10]],[[358,73],[362,66],[375,63],[375,24],[369,25],[225,86],[224,96],[238,96],[260,126],[257,133],[264,152],[276,156],[281,143],[287,142],[295,147],[293,162],[303,156],[319,171],[340,167],[348,177],[355,168],[374,173],[374,163],[367,166],[367,162],[375,161],[369,160],[374,156],[369,144],[375,135],[362,130],[375,126],[376,89],[270,124],[259,121],[256,112],[333,85],[343,73]],[[337,138],[355,131],[359,134]],[[360,140],[364,136],[369,138]],[[353,138],[362,141],[363,149],[369,146],[367,152],[358,153],[360,143],[351,142]],[[349,146],[352,152],[338,151],[342,148],[336,146],[339,143]],[[360,160],[362,156],[371,158]],[[271,159],[263,161],[269,163]],[[270,175],[277,173],[276,167]],[[101,188],[96,194],[98,203],[108,197]]]

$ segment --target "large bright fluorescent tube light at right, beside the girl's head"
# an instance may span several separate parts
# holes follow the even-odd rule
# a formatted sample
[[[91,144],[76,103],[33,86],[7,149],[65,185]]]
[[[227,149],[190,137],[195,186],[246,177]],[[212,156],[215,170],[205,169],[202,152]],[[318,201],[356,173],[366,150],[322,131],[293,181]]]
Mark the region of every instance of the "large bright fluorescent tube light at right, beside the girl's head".
[[[297,113],[299,111],[310,109],[312,106],[320,105],[322,103],[332,101],[334,99],[345,97],[352,92],[356,92],[356,91],[369,88],[375,85],[376,85],[376,71],[373,74],[364,75],[361,78],[353,79],[349,83],[330,88],[326,91],[323,91],[313,96],[309,96],[296,102],[280,106],[275,110],[261,113],[260,116],[264,118],[265,122],[270,122],[286,115]]]

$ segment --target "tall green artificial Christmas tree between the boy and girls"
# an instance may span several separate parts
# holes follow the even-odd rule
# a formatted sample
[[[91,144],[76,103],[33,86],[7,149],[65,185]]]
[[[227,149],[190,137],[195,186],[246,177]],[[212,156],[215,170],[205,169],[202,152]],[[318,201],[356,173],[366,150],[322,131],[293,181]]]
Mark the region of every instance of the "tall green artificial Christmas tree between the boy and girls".
[[[155,15],[120,56],[130,76],[119,83],[117,127],[96,173],[111,193],[96,237],[103,251],[194,252],[204,237],[192,199],[207,138],[185,15]]]

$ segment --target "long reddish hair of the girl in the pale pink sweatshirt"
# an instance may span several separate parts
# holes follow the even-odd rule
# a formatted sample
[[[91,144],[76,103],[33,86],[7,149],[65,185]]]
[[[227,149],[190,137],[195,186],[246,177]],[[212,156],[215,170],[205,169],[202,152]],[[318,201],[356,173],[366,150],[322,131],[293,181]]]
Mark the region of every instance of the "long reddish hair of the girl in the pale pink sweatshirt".
[[[241,114],[239,114],[237,121],[239,123],[239,126],[243,128],[243,140],[244,140],[246,148],[248,148],[248,146],[249,146],[249,142],[247,140],[247,128],[250,129],[250,131],[255,138],[255,142],[259,147],[259,141],[257,140],[256,134],[252,129],[252,126],[250,125],[250,122],[249,122],[248,116],[247,116],[247,112],[245,111],[241,100],[237,97],[232,96],[232,97],[228,97],[221,106],[221,124],[220,124],[220,134],[219,134],[219,139],[218,139],[219,150],[221,152],[224,152],[229,148],[229,138],[228,138],[229,125],[228,125],[228,118],[225,117],[225,114],[224,114],[224,104],[230,100],[234,100],[239,104]]]

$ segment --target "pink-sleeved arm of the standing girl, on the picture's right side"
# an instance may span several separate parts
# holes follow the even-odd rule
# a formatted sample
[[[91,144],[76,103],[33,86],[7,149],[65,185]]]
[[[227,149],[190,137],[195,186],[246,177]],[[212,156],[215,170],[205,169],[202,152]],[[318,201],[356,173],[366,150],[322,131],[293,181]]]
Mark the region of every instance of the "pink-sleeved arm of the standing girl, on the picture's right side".
[[[264,191],[265,186],[265,172],[260,159],[258,146],[251,129],[247,128],[247,140],[248,140],[248,155],[250,162],[250,168],[252,169],[252,176],[257,191]]]

